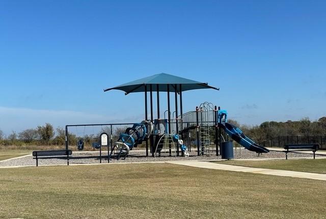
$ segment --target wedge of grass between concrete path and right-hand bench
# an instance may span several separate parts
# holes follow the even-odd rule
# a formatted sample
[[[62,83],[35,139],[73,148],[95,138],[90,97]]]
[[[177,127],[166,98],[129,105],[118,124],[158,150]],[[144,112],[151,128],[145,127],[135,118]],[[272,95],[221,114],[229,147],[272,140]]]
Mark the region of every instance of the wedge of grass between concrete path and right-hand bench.
[[[326,174],[326,159],[288,159],[288,160],[225,160],[216,161],[243,167],[290,170]]]

